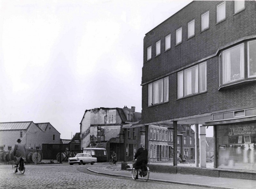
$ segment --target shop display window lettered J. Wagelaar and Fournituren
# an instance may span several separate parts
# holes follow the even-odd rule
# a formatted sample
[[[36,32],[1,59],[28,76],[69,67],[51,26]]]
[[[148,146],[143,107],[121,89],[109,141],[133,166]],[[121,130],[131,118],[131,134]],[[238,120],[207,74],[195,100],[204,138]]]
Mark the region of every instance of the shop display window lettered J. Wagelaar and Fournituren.
[[[256,123],[217,126],[217,167],[256,170]]]

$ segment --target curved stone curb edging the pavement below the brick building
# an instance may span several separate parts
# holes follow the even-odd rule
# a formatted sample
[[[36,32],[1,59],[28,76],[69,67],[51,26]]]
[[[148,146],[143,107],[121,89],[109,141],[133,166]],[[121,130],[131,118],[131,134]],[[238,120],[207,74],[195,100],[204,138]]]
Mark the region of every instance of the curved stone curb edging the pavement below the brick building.
[[[91,170],[90,167],[87,168],[87,170],[88,170],[88,171],[91,171],[91,172],[93,172],[93,173],[101,174],[101,175],[108,175],[108,176],[113,176],[113,177],[126,177],[126,178],[131,178],[131,176],[116,175],[116,174],[103,173],[103,172]],[[141,179],[141,178],[139,178],[139,179]],[[193,184],[193,183],[186,183],[186,182],[176,182],[176,181],[168,181],[168,180],[158,180],[158,179],[153,179],[153,178],[149,178],[148,180],[156,181],[156,182],[165,182],[165,183],[171,183],[171,184],[178,184],[178,185],[197,186],[197,187],[204,187],[204,188],[238,189],[238,188],[222,187],[222,186],[215,186],[215,185],[203,185],[203,184]]]

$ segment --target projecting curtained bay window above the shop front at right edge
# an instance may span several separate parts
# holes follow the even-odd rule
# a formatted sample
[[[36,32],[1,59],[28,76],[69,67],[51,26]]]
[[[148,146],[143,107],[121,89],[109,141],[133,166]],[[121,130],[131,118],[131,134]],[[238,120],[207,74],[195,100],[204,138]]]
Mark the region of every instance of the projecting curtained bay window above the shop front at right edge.
[[[245,46],[247,48],[245,48]],[[223,50],[220,61],[220,85],[256,77],[256,40]],[[247,68],[247,69],[245,69]]]

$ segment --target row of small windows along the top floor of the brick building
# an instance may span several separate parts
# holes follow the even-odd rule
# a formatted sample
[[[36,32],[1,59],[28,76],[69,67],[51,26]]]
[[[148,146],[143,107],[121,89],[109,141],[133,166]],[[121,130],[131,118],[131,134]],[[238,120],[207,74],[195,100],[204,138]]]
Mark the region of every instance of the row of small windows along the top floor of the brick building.
[[[244,1],[234,1],[234,12],[244,10]],[[201,31],[204,31],[209,28],[209,11],[201,15]],[[226,2],[222,2],[217,5],[217,23],[226,19]],[[188,39],[195,35],[195,20],[188,22]],[[175,45],[178,45],[182,42],[182,27],[176,30],[176,39]],[[165,37],[165,51],[171,49],[171,34]],[[156,42],[156,56],[161,53],[161,40]],[[147,60],[150,60],[152,56],[152,46],[147,48]]]

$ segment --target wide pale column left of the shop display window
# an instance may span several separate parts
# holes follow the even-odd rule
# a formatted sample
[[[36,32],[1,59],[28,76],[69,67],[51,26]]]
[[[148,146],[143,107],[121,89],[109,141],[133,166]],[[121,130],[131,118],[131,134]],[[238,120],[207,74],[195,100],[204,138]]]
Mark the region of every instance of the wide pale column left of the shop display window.
[[[205,126],[200,126],[200,167],[206,167],[206,134]]]

